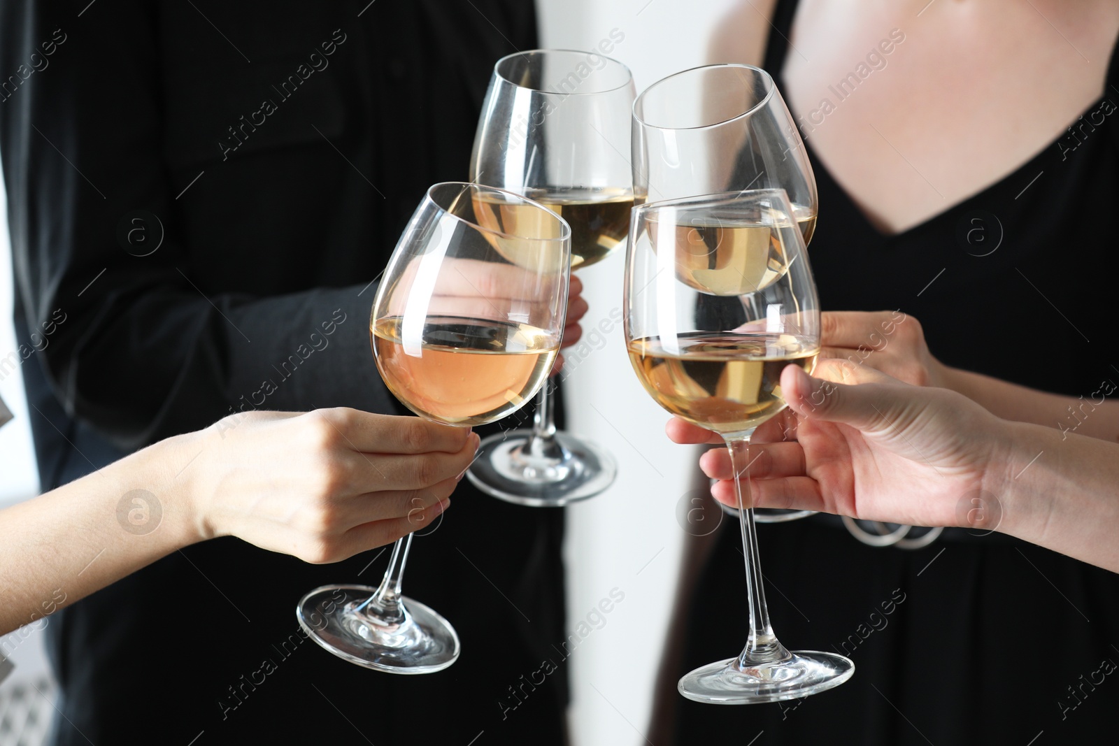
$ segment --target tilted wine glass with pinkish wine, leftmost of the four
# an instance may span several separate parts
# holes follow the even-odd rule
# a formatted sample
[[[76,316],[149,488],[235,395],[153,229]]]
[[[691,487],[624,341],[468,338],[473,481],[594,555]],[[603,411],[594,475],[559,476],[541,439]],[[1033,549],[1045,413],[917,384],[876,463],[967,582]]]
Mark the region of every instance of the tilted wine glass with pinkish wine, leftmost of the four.
[[[448,425],[520,408],[560,352],[570,262],[571,229],[546,207],[490,187],[434,185],[373,304],[369,336],[385,385],[412,412]],[[335,655],[378,671],[453,663],[454,627],[401,593],[411,546],[411,533],[396,542],[377,588],[327,585],[303,596],[300,625]]]

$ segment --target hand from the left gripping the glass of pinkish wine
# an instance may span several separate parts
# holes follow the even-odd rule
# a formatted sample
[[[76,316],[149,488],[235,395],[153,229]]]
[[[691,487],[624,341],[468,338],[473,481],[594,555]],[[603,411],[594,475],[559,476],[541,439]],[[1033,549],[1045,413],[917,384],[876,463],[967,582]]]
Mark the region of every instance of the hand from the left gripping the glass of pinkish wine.
[[[237,536],[309,563],[430,525],[479,442],[466,427],[347,408],[243,413],[194,435],[185,493],[197,539]]]

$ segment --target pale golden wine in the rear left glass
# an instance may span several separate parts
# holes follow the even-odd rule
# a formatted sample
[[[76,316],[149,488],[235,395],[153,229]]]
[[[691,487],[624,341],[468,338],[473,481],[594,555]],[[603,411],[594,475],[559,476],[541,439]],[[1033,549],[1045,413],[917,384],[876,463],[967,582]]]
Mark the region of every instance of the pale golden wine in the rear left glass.
[[[572,268],[605,258],[626,240],[629,234],[633,195],[627,190],[533,191],[528,197],[547,206],[571,226]],[[546,254],[548,249],[545,245],[515,238],[515,236],[558,238],[560,224],[551,216],[542,215],[530,205],[508,201],[487,193],[476,193],[473,207],[478,225],[501,234],[488,237],[501,256],[534,272],[540,268],[553,271],[555,258]]]

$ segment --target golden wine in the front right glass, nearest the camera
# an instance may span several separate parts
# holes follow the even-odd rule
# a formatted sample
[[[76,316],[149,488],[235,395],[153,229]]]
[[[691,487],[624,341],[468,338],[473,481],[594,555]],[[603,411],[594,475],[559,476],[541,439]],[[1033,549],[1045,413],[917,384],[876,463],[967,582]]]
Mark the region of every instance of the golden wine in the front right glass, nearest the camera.
[[[797,365],[811,372],[819,353],[793,334],[693,332],[675,341],[630,342],[633,370],[657,404],[722,434],[752,431],[781,412],[781,371]]]

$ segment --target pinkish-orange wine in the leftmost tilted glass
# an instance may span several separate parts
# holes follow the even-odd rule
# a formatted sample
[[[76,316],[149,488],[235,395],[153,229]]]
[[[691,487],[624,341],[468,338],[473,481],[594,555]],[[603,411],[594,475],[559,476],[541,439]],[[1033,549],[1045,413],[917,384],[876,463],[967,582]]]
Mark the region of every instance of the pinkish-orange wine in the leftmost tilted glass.
[[[536,327],[431,317],[405,340],[401,317],[370,325],[380,376],[408,409],[453,425],[483,425],[519,408],[552,371],[560,340]]]

